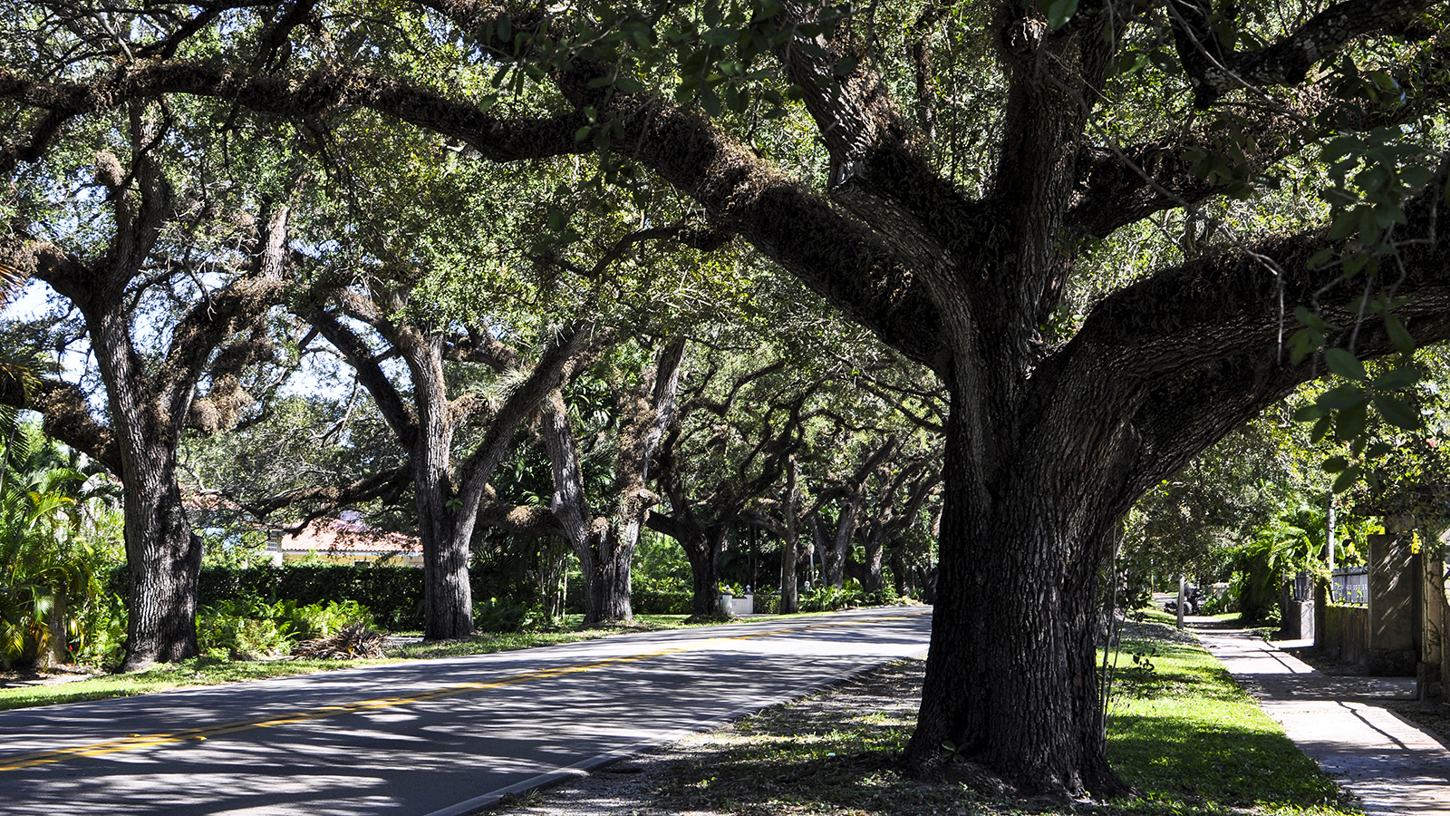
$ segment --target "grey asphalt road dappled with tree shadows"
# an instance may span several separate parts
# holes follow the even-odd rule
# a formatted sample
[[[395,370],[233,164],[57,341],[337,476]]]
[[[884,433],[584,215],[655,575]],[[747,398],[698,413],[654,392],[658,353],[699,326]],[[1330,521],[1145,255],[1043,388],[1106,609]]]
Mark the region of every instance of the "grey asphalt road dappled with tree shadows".
[[[889,607],[0,711],[0,815],[471,813],[929,632]]]

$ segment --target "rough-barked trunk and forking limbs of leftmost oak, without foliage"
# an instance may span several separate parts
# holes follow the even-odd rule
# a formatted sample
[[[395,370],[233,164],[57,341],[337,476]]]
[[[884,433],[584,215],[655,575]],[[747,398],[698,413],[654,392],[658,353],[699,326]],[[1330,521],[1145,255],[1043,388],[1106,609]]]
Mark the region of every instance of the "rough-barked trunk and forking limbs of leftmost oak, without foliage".
[[[129,136],[135,145],[160,138],[149,115],[136,107]],[[96,257],[74,257],[46,242],[13,237],[0,245],[0,260],[49,283],[80,311],[106,386],[109,425],[93,418],[80,391],[46,380],[33,399],[17,404],[45,417],[46,433],[96,457],[122,481],[126,568],[126,656],[123,671],[197,655],[196,604],[202,539],[191,531],[177,484],[177,447],[187,427],[218,430],[215,405],[199,417],[196,388],[213,356],[238,332],[251,330],[280,302],[290,211],[262,213],[246,245],[249,267],[235,270],[226,286],[207,293],[184,312],[171,331],[158,366],[148,367],[132,340],[132,283],[151,264],[186,266],[167,257],[161,231],[177,215],[175,196],[152,152],[123,173],[119,160],[102,152],[96,180],[110,193],[116,232]],[[39,158],[39,157],[36,157]],[[255,353],[265,354],[265,344]],[[248,351],[251,353],[251,351]],[[246,354],[232,363],[246,362]],[[213,396],[225,376],[213,376]],[[19,396],[19,395],[7,395]],[[225,424],[225,423],[222,423]]]

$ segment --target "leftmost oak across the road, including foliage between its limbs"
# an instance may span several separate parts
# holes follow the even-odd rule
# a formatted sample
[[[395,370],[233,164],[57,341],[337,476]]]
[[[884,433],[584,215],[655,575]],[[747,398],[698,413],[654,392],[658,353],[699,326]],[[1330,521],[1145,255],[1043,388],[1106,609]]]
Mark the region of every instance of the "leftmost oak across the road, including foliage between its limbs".
[[[129,574],[123,668],[141,669],[197,653],[202,539],[183,502],[177,449],[188,430],[235,424],[252,399],[239,375],[273,356],[265,318],[287,287],[291,206],[215,177],[204,189],[197,164],[206,163],[177,157],[187,139],[154,106],[133,103],[119,129],[122,141],[109,145],[116,152],[102,150],[91,168],[71,168],[104,190],[99,212],[55,218],[22,186],[17,215],[0,235],[0,266],[44,280],[80,314],[104,415],[61,376],[30,393],[7,388],[0,399],[41,412],[48,434],[120,478]],[[168,167],[168,155],[186,168]],[[168,170],[186,181],[180,192]],[[65,171],[64,164],[48,170]],[[88,235],[81,224],[102,227]]]

